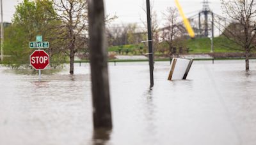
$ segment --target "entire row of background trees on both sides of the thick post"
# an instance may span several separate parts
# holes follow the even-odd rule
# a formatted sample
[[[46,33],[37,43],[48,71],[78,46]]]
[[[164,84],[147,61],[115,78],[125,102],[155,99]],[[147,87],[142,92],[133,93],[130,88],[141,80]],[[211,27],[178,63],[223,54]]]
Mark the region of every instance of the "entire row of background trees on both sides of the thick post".
[[[249,69],[250,54],[255,49],[256,8],[254,0],[222,0],[222,9],[230,19],[230,25],[221,25],[222,36],[234,41],[246,57],[246,70]],[[4,52],[10,57],[5,61],[28,63],[33,50],[29,41],[35,41],[36,35],[42,35],[49,41],[50,48],[45,50],[51,57],[51,65],[69,62],[70,74],[74,74],[74,57],[77,53],[88,55],[88,4],[87,0],[24,0],[16,7],[12,25],[5,28]],[[179,13],[174,7],[163,13],[164,24],[159,27],[156,12],[152,12],[152,38],[155,52],[172,57],[179,48],[186,51],[188,39],[186,30],[180,23]],[[106,16],[106,35],[108,46],[136,45],[147,50],[147,25],[138,24],[111,25],[116,16]],[[217,22],[217,21],[216,21]],[[218,23],[218,22],[217,22]],[[195,26],[196,27],[196,26]],[[230,48],[232,49],[232,48]]]

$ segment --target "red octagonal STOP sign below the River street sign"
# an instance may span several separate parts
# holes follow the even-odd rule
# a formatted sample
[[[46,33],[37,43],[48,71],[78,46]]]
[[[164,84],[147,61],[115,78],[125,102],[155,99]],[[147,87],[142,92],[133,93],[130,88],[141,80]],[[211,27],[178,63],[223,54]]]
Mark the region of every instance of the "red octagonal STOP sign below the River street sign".
[[[31,66],[36,70],[45,69],[50,64],[50,57],[44,50],[36,50],[29,59]]]

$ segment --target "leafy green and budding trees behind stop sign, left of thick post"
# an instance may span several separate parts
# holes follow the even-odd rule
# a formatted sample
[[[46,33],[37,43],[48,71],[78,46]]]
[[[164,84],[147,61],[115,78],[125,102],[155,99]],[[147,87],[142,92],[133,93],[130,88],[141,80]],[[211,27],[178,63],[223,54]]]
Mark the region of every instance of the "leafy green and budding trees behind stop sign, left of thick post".
[[[42,35],[49,41],[45,50],[52,65],[70,62],[74,74],[74,57],[88,51],[88,3],[85,0],[24,0],[15,8],[12,25],[6,27],[4,50],[10,54],[5,61],[28,63],[29,41]],[[109,22],[115,17],[106,17]]]

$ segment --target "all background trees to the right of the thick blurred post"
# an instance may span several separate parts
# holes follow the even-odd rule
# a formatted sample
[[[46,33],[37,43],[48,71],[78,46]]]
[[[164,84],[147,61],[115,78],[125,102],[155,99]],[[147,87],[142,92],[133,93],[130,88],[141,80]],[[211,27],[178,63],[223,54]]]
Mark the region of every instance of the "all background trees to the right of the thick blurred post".
[[[215,27],[221,31],[221,37],[225,37],[228,41],[236,44],[236,47],[234,47],[225,45],[224,42],[223,46],[230,48],[230,50],[243,52],[245,69],[248,71],[250,69],[250,57],[256,49],[256,2],[255,0],[221,0],[221,8],[223,15],[229,20],[229,24],[226,26],[220,20],[214,19]],[[151,15],[153,48],[155,52],[167,53],[172,57],[180,50],[177,50],[177,48],[181,48],[181,52],[187,49],[184,40],[188,39],[188,35],[184,26],[180,24],[176,8],[167,8],[163,15],[163,28],[159,28],[156,13],[153,12]],[[193,27],[196,28],[196,23],[193,24]],[[136,32],[136,30],[138,30],[138,26],[135,24],[123,25],[121,28],[111,27],[108,32],[108,36],[111,38],[109,39],[109,45],[136,44],[147,40],[145,37],[146,29],[139,32]]]

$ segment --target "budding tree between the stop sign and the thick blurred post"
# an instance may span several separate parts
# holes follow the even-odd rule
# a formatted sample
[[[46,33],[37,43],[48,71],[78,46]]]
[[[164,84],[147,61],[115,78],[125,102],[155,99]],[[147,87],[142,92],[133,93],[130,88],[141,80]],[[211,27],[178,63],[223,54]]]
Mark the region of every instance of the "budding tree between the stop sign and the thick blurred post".
[[[70,74],[74,74],[74,57],[83,44],[78,39],[88,32],[87,0],[52,0],[56,15],[63,23],[67,35],[67,50],[70,57]],[[81,37],[81,38],[79,38]],[[85,40],[84,40],[85,41]]]

